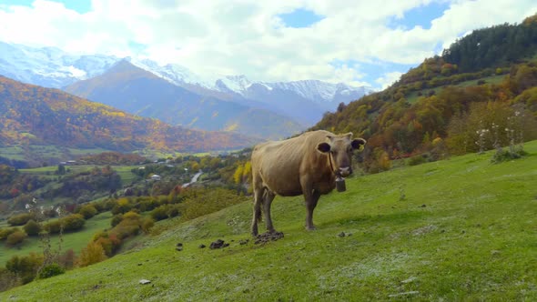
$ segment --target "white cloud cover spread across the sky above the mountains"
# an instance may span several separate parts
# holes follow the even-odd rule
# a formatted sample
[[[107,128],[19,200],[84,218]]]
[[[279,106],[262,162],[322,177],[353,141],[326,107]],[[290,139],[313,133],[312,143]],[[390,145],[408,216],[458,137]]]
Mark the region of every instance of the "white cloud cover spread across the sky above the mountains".
[[[264,81],[321,79],[385,85],[360,65],[330,62],[419,64],[434,48],[449,46],[462,33],[504,22],[521,22],[537,12],[533,0],[453,0],[430,29],[388,27],[431,0],[378,2],[340,0],[93,0],[79,14],[53,1],[31,7],[0,5],[0,41],[53,45],[88,54],[149,57],[177,63],[202,76],[244,74]],[[278,15],[305,8],[325,18],[306,28],[286,27]],[[142,50],[129,45],[146,45]],[[375,83],[370,83],[375,86]]]

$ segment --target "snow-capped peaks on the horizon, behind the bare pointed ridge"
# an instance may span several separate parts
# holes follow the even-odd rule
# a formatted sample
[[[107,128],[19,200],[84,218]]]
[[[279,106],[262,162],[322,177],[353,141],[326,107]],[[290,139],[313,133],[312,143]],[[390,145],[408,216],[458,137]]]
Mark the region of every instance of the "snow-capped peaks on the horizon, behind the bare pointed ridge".
[[[188,68],[111,55],[74,55],[54,47],[35,48],[0,42],[0,75],[38,86],[64,88],[106,73],[127,60],[167,82],[201,96],[217,97],[241,105],[275,111],[312,126],[326,111],[370,93],[369,87],[353,87],[319,80],[261,82],[246,76],[198,76]]]

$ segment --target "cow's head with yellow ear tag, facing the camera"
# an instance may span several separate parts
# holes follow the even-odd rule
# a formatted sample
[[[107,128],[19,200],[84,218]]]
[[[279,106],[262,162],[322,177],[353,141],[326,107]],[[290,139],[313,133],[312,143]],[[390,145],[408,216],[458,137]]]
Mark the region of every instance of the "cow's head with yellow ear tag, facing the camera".
[[[317,145],[317,150],[328,154],[330,168],[337,176],[350,176],[352,173],[352,151],[363,149],[366,140],[352,138],[352,133],[340,136],[327,136],[327,141]]]

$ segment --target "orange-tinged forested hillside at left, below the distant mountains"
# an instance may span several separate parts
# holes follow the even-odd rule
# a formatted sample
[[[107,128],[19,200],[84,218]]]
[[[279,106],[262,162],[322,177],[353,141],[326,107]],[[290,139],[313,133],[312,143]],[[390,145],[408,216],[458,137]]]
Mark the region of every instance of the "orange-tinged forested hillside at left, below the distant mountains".
[[[0,146],[16,144],[201,151],[250,146],[246,136],[189,130],[132,116],[57,89],[0,76]]]

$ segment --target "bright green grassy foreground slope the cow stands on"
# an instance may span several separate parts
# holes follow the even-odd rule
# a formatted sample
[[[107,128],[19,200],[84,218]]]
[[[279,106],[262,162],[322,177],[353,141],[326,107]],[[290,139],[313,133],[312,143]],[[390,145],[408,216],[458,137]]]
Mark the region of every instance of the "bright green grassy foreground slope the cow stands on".
[[[249,203],[168,221],[144,248],[0,300],[536,300],[537,142],[526,150],[500,165],[489,153],[349,179],[347,192],[321,197],[315,232],[302,227],[300,197],[278,197],[285,238],[265,246],[238,245]],[[234,242],[198,248],[217,238]]]

